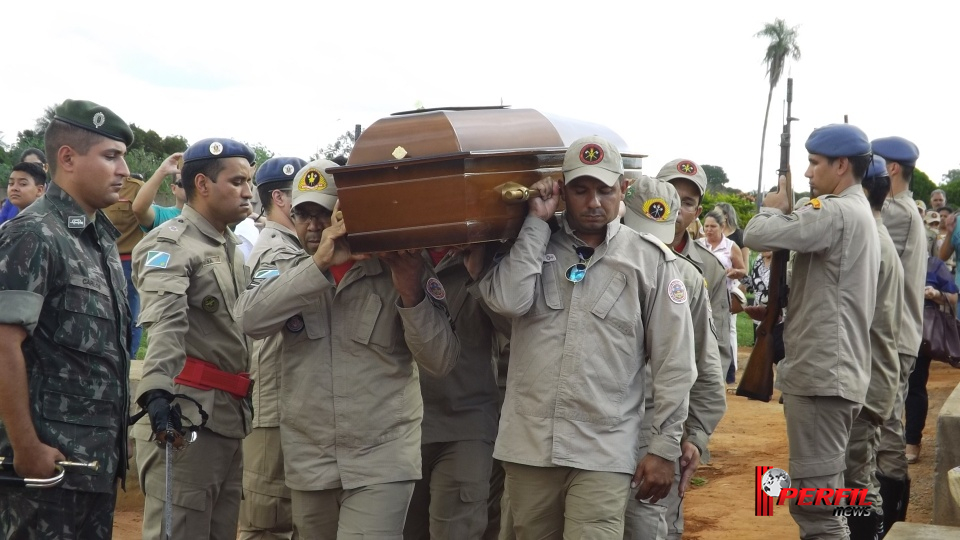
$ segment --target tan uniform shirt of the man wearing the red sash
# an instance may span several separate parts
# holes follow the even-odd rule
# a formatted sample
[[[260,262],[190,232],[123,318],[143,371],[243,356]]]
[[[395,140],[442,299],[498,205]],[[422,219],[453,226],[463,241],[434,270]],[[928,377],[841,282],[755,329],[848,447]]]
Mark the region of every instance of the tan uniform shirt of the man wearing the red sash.
[[[150,231],[133,251],[133,280],[140,291],[140,323],[150,335],[143,378],[137,391],[166,390],[196,399],[210,415],[207,428],[240,439],[250,433],[250,406],[223,390],[198,390],[174,384],[186,357],[216,365],[227,373],[250,367],[249,343],[240,330],[237,297],[250,273],[230,230],[220,234],[191,206]],[[196,406],[181,405],[199,423]],[[134,428],[147,438],[146,417]]]

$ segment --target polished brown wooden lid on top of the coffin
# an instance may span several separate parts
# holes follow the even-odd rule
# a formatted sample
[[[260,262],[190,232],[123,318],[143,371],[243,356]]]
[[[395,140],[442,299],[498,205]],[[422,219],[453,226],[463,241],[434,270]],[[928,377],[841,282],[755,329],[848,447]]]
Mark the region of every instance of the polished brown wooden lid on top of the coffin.
[[[494,106],[419,109],[381,118],[360,135],[347,165],[337,168],[335,175],[484,155],[562,154],[570,143],[588,135],[616,145],[625,169],[640,169],[646,156],[631,152],[606,126],[534,109]],[[399,159],[394,156],[398,147],[405,152]]]

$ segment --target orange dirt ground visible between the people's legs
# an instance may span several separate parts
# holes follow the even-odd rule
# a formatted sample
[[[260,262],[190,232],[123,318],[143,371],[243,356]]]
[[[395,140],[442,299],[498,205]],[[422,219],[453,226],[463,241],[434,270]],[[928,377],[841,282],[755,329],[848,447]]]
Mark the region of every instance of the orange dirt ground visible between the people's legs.
[[[749,349],[741,349],[740,365]],[[739,379],[739,374],[738,374]],[[930,410],[920,462],[910,466],[913,492],[908,520],[929,523],[933,511],[933,463],[937,414],[950,392],[960,383],[960,370],[934,362],[930,367]],[[779,393],[777,393],[779,396]],[[797,526],[786,508],[775,507],[771,517],[754,516],[754,471],[757,465],[787,468],[786,429],[783,407],[776,399],[770,403],[727,396],[727,414],[710,444],[713,461],[697,476],[706,484],[695,487],[685,503],[686,533],[690,540],[766,540],[796,538]],[[140,538],[143,497],[136,475],[127,481],[127,492],[117,502],[114,538]]]

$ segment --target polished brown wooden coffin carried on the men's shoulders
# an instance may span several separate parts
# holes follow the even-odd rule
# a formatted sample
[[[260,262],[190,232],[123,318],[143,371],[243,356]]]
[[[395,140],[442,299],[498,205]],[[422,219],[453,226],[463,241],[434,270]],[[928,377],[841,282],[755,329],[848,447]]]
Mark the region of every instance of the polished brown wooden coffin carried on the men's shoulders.
[[[333,172],[355,253],[516,238],[527,207],[521,186],[561,178],[574,140],[617,145],[631,174],[638,154],[608,128],[532,109],[452,108],[397,113],[357,139]]]

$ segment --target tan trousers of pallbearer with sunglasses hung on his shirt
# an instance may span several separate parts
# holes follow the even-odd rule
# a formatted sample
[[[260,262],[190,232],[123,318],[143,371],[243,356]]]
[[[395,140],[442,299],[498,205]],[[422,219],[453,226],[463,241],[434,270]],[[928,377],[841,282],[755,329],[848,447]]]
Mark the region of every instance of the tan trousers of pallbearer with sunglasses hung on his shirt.
[[[632,475],[508,462],[503,467],[513,534],[502,527],[501,539],[623,539]]]

